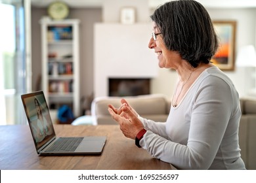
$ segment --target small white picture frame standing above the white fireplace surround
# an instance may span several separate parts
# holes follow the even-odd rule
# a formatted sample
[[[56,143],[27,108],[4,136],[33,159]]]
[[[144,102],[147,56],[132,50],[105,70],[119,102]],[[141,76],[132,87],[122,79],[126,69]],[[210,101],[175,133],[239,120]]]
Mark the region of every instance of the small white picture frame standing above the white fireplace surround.
[[[134,24],[135,23],[135,8],[123,7],[121,8],[121,24]]]

